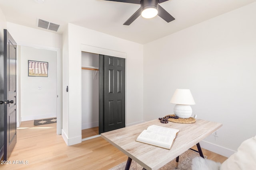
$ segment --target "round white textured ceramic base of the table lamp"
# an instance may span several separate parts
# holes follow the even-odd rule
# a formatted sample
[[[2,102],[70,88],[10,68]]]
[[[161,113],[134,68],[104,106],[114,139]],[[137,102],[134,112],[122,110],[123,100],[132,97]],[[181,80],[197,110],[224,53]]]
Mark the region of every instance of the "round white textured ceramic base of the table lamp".
[[[173,112],[180,118],[189,118],[192,115],[192,108],[189,105],[176,104]]]

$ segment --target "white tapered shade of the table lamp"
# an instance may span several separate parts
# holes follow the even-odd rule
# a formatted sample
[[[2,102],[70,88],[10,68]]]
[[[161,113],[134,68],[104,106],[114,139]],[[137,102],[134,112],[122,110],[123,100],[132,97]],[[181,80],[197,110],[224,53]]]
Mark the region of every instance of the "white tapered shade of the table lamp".
[[[184,105],[196,104],[189,89],[176,89],[170,103]]]

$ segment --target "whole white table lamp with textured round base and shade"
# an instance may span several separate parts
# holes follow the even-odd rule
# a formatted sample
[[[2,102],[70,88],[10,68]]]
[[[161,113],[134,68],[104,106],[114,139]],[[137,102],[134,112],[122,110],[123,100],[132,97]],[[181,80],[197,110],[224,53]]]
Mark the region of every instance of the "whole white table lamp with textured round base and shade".
[[[190,105],[196,104],[189,89],[176,89],[170,103],[176,104],[173,112],[180,118],[189,118],[192,115]]]

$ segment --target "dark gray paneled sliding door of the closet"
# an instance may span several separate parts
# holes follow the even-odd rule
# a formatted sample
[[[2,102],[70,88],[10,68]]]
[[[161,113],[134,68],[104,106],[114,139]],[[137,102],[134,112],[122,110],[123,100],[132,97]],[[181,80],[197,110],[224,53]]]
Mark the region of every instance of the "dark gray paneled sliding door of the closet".
[[[99,69],[99,133],[103,133],[125,127],[125,59],[100,55]]]

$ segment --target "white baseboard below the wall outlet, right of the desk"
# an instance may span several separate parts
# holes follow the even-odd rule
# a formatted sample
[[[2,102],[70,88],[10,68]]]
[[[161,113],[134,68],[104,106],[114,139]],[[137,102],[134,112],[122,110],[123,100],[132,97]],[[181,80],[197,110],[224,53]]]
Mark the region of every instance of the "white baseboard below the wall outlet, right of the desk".
[[[230,157],[232,154],[234,154],[234,150],[227,149],[225,147],[221,147],[219,145],[207,142],[207,141],[200,141],[201,148],[210,150],[211,152],[215,152],[217,154],[220,154],[222,156]]]

